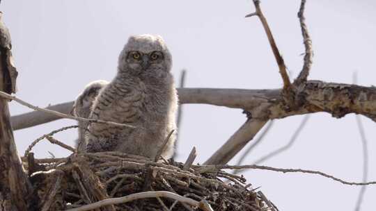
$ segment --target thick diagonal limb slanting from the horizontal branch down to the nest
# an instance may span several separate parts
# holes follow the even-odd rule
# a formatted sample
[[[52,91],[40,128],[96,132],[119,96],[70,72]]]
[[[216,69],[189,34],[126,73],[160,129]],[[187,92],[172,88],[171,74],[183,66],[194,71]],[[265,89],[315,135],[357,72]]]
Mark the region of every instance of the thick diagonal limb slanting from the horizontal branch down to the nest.
[[[226,164],[263,128],[267,120],[247,120],[204,164]]]

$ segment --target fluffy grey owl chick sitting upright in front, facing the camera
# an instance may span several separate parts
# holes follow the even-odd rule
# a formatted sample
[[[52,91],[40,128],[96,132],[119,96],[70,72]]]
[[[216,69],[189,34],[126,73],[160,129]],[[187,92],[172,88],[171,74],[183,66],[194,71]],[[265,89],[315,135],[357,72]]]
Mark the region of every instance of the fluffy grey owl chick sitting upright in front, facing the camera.
[[[178,107],[171,75],[171,54],[162,37],[129,38],[118,58],[118,71],[95,99],[91,118],[130,124],[135,128],[91,123],[88,152],[121,151],[155,158],[171,130]],[[171,158],[175,134],[162,156]]]

